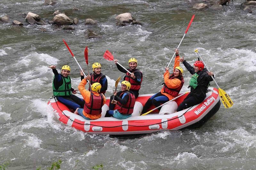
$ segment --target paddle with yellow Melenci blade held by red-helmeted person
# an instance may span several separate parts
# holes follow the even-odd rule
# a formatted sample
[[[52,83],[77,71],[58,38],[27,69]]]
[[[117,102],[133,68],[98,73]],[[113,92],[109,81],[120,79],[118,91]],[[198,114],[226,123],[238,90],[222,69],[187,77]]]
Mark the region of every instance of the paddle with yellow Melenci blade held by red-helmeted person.
[[[198,49],[195,49],[195,53],[200,57],[201,61],[204,63],[202,57],[201,57],[201,56],[199,55],[199,53],[198,53]],[[205,63],[204,63],[204,66],[205,66],[205,68],[207,69],[207,71],[210,72],[209,69],[207,68],[207,66],[205,65]],[[211,77],[212,77],[212,76],[211,76]],[[212,79],[213,79],[214,83],[217,85],[217,87],[219,88],[220,100],[222,101],[223,105],[224,105],[226,108],[232,107],[234,103],[233,103],[233,101],[231,100],[231,98],[228,96],[228,94],[227,94],[224,90],[222,90],[222,89],[219,87],[219,85],[217,84],[217,82],[215,81],[215,79],[214,79],[213,77],[212,77]]]

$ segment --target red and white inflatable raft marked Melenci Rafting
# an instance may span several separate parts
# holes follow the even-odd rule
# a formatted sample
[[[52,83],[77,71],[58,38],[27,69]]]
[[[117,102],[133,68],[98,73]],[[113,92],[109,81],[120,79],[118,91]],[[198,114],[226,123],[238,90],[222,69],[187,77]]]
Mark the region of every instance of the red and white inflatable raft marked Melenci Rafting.
[[[175,100],[175,102],[172,101],[164,105],[160,112],[145,116],[140,116],[140,113],[143,109],[143,105],[153,94],[140,95],[136,99],[132,116],[123,120],[114,117],[104,117],[106,111],[109,110],[109,97],[107,98],[106,104],[102,107],[101,118],[96,120],[85,120],[82,116],[75,115],[56,98],[50,99],[48,105],[52,108],[60,122],[87,133],[109,135],[145,134],[160,129],[179,130],[183,128],[201,127],[220,108],[218,89],[212,87],[209,89],[211,91],[206,93],[206,98],[198,105],[174,113],[178,105],[188,95],[185,94]],[[182,91],[180,94],[185,92],[187,91]],[[151,107],[150,109],[153,108],[154,107]]]

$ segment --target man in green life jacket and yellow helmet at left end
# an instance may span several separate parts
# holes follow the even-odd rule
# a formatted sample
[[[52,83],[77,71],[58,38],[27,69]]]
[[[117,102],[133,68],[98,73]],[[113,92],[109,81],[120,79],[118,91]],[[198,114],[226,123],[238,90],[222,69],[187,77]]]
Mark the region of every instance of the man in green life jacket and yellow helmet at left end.
[[[71,87],[71,79],[69,77],[70,67],[64,65],[61,68],[60,74],[56,70],[56,65],[51,65],[49,68],[51,68],[54,73],[52,88],[53,95],[56,96],[57,100],[74,110],[78,107],[83,107],[84,100],[73,95],[76,94],[76,90]]]

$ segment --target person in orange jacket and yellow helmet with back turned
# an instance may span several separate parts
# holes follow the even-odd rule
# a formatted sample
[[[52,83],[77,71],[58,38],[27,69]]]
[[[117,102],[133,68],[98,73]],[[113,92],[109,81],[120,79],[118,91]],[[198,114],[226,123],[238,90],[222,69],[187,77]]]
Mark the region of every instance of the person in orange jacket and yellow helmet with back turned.
[[[104,94],[100,93],[100,83],[92,84],[92,92],[86,90],[84,86],[87,80],[91,78],[90,75],[86,76],[78,85],[78,90],[81,92],[85,104],[84,108],[77,108],[74,112],[77,115],[82,116],[86,120],[94,120],[101,117],[101,107],[106,103]]]

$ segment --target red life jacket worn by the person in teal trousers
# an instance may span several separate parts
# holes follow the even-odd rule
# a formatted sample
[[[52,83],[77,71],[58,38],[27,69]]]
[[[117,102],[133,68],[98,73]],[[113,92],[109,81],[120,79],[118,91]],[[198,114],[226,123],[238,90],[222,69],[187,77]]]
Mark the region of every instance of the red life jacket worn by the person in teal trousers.
[[[129,99],[125,105],[122,105],[119,101],[117,101],[116,109],[122,114],[132,114],[133,107],[135,104],[135,96],[132,92],[125,91],[120,94],[120,98],[122,98],[123,94],[127,93],[129,95]]]

